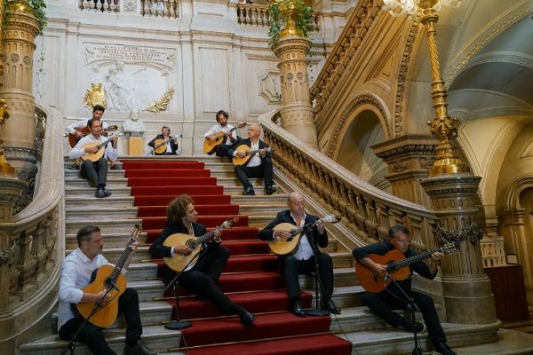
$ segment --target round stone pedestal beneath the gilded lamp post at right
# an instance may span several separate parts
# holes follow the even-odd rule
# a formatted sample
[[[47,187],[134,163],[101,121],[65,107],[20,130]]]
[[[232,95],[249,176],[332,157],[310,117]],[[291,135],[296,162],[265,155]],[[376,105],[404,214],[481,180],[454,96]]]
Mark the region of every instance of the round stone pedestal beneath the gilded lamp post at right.
[[[452,323],[496,321],[490,280],[483,271],[477,189],[481,177],[469,173],[430,177],[421,184],[440,218],[437,237],[441,244],[455,241],[456,254],[442,260],[442,288],[446,315]]]

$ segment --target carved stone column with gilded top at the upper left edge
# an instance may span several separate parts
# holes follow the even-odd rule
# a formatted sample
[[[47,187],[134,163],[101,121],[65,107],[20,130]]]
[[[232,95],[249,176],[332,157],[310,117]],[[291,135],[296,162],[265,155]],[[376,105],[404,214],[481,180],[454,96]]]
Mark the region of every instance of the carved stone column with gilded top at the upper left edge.
[[[32,181],[36,176],[36,118],[32,95],[34,43],[39,22],[25,2],[10,2],[5,20],[3,83],[0,99],[9,109],[10,119],[0,130],[4,154],[20,179]],[[31,192],[33,193],[33,191]]]

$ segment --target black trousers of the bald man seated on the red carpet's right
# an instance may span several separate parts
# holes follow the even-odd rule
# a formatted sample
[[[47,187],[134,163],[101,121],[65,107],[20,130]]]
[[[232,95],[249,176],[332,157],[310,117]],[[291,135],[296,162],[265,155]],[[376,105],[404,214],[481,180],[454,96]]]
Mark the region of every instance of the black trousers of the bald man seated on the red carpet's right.
[[[307,260],[298,260],[294,256],[283,258],[282,273],[287,285],[290,302],[297,301],[300,295],[298,275],[314,272],[314,256]],[[331,256],[318,253],[318,275],[320,277],[322,304],[330,301],[333,294],[333,262]]]

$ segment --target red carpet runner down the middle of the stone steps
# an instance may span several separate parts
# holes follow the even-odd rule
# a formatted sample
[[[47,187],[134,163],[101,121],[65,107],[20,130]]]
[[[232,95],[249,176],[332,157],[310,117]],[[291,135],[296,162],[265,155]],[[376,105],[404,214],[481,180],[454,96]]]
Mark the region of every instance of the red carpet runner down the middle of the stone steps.
[[[203,162],[123,162],[123,170],[148,243],[166,225],[167,203],[181,193],[193,197],[198,221],[208,229],[228,217],[240,217],[234,228],[222,234],[222,244],[231,250],[231,257],[219,284],[227,296],[255,313],[257,319],[245,327],[238,317],[220,317],[224,315],[214,304],[184,291],[179,315],[181,319],[193,319],[193,326],[184,329],[183,334],[187,346],[198,346],[187,354],[351,353],[349,342],[328,334],[330,317],[298,318],[287,312],[284,282],[276,272],[277,257],[269,255],[267,243],[259,241],[258,229],[248,226],[248,217],[239,214],[239,206],[231,204],[231,197],[223,194],[223,186],[217,185],[216,177],[204,169]],[[302,293],[302,300],[305,307],[310,307],[312,296]]]

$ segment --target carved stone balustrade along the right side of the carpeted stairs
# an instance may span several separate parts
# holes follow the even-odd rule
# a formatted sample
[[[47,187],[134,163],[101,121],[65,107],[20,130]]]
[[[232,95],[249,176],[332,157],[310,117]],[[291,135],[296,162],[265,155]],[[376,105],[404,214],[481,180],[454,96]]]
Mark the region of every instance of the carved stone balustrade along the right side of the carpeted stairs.
[[[400,223],[410,229],[413,248],[434,247],[437,217],[433,210],[368,184],[283,130],[279,119],[279,112],[259,116],[265,140],[274,148],[275,168],[330,213],[342,217],[342,223],[359,239],[352,246],[385,240],[388,229]]]

